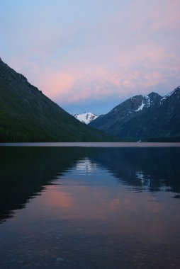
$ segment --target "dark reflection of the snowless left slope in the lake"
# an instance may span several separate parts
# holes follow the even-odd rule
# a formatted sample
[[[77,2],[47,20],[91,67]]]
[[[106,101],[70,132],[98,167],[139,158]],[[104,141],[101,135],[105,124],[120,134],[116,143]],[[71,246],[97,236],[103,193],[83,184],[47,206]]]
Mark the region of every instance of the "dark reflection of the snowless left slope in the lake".
[[[0,222],[12,217],[45,185],[81,159],[81,152],[56,148],[0,148]]]

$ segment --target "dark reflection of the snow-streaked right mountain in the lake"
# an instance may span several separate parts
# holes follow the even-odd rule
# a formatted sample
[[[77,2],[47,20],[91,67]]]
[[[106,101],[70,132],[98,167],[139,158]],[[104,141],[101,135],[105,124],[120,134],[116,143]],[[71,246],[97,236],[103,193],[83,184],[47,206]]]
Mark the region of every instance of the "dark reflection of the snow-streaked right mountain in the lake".
[[[104,150],[104,149],[103,149]],[[135,190],[147,187],[151,192],[180,192],[180,151],[178,148],[109,149],[96,161]]]

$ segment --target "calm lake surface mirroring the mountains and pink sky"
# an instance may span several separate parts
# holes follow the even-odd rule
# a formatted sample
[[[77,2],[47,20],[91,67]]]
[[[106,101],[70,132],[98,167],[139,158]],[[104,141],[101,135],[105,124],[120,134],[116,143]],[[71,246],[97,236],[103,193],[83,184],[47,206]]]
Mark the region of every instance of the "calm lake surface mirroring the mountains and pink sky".
[[[0,148],[0,268],[180,268],[180,148]]]

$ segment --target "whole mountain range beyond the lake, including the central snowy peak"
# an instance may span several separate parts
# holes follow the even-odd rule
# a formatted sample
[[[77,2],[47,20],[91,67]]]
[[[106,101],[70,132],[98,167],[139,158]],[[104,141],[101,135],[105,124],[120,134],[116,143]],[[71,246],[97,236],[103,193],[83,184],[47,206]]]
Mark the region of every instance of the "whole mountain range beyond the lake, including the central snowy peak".
[[[120,141],[180,141],[180,86],[164,97],[134,96],[98,118],[74,117],[0,58],[0,142],[117,141],[112,135]]]

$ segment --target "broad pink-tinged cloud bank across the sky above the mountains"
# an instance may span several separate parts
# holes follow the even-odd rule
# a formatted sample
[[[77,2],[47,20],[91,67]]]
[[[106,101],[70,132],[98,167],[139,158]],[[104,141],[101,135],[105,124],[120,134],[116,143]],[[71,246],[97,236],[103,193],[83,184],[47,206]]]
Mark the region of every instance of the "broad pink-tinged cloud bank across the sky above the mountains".
[[[180,75],[180,2],[116,5],[95,21],[64,28],[63,21],[47,23],[55,8],[46,9],[45,21],[30,28],[23,50],[11,58],[13,67],[60,105],[146,94],[159,85],[171,91]]]

